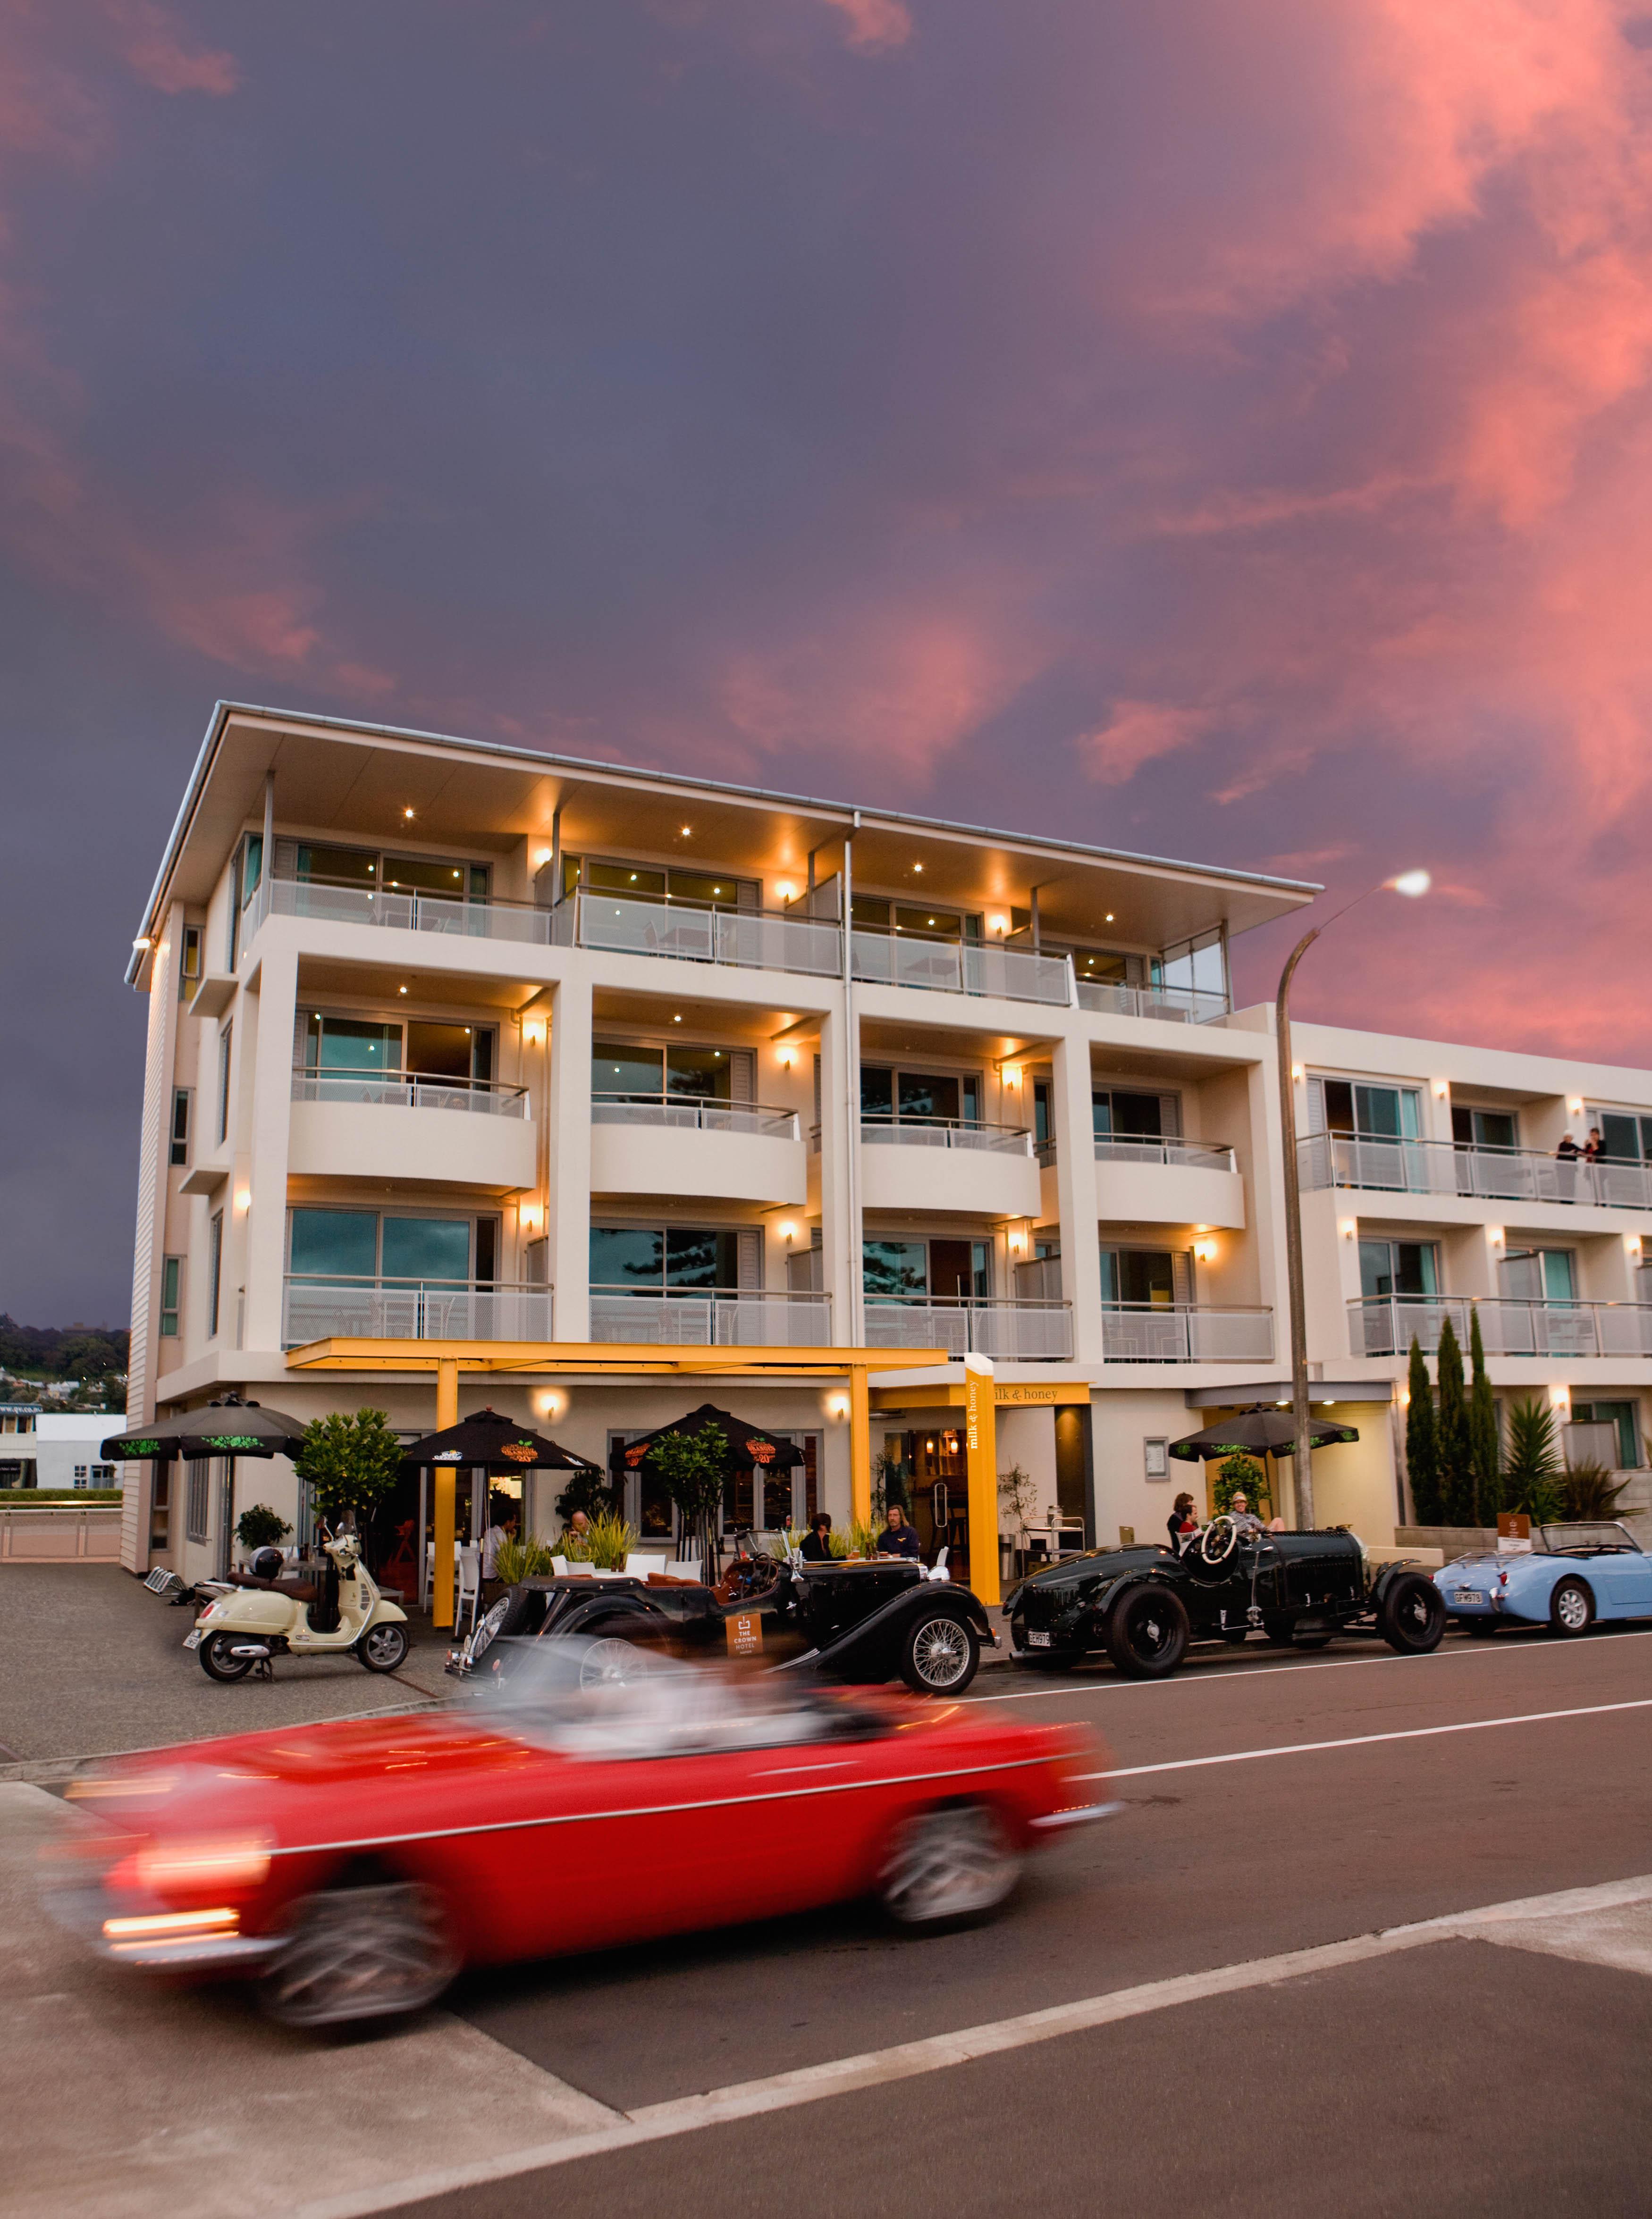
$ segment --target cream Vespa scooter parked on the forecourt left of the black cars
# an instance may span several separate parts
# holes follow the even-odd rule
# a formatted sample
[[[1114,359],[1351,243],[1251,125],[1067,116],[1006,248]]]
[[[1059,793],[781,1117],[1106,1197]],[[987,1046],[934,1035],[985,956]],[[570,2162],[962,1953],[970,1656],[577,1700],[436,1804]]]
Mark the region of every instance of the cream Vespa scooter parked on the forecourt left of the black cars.
[[[271,1658],[340,1651],[369,1671],[395,1671],[406,1658],[406,1611],[373,1587],[357,1533],[340,1533],[322,1549],[331,1575],[238,1582],[213,1595],[184,1638],[209,1680],[244,1680],[253,1666],[269,1678]]]

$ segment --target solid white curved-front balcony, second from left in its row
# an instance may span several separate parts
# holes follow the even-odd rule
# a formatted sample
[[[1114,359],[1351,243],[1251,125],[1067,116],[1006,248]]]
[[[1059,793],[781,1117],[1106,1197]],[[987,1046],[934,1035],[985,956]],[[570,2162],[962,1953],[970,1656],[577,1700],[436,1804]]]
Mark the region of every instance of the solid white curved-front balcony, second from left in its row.
[[[793,1110],[637,1094],[591,1098],[593,1194],[802,1205],[806,1189],[808,1156]]]

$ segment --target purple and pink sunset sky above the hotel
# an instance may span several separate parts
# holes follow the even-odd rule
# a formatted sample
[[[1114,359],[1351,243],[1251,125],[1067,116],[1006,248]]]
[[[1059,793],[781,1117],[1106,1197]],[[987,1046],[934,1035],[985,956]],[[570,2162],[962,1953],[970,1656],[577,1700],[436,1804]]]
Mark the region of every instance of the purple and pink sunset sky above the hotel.
[[[1645,1061],[1650,373],[1608,0],[0,0],[0,1307],[220,695],[1426,863],[1303,1014]]]

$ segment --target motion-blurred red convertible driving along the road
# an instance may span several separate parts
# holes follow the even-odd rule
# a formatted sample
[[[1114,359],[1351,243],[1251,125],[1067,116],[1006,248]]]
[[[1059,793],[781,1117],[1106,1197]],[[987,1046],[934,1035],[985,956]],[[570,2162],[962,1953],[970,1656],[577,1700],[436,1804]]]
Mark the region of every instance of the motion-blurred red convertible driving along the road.
[[[464,1966],[873,1893],[901,1926],[1001,1904],[1108,1804],[1072,1726],[662,1662],[580,1686],[577,1642],[486,1704],[131,1757],[51,1908],[118,1964],[251,1975],[291,2026],[431,2004]]]

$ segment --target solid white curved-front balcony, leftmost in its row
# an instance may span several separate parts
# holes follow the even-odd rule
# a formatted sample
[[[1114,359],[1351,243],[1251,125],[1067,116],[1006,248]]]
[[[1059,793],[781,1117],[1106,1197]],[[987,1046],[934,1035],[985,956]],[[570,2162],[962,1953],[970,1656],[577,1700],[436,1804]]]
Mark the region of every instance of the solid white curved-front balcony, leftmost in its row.
[[[422,1178],[513,1194],[535,1183],[524,1087],[422,1072],[293,1072],[295,1178]]]

